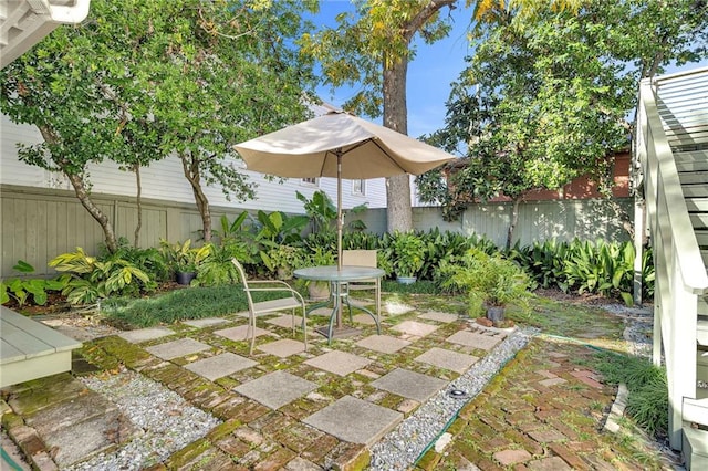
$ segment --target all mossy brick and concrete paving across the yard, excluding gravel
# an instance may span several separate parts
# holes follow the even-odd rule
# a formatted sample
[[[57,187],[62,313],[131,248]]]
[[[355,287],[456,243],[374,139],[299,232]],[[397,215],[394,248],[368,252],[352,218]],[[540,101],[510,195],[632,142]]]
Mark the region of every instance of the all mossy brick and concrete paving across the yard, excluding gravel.
[[[427,296],[420,300],[424,297],[427,301]],[[212,336],[218,328],[217,335],[244,339],[244,320],[235,323],[229,316],[228,321],[185,321],[174,329],[122,333],[121,337],[137,345],[116,336],[98,338],[88,346],[87,359],[106,370],[121,364],[139,370],[222,420],[207,437],[155,470],[369,469],[367,447],[404,416],[423,411],[427,398],[455,383],[448,375],[464,374],[476,357],[483,357],[509,334],[425,305],[424,311],[410,312],[412,306],[398,301],[384,302],[384,310],[400,316],[383,318],[385,335],[373,335],[371,317],[357,314],[362,316],[361,334],[331,346],[313,338],[308,352],[302,342],[280,335],[292,325],[291,316],[283,315],[259,320],[266,328],[259,328],[257,335],[271,338],[260,342],[251,358],[237,355],[243,352],[242,343],[233,346]],[[326,316],[330,312],[323,310]],[[348,324],[347,313],[345,316]],[[238,323],[241,325],[236,326]],[[164,336],[173,338],[160,341]],[[155,339],[163,343],[139,345]],[[192,353],[199,355],[191,357]],[[219,355],[209,356],[215,353]],[[655,451],[627,451],[615,435],[598,432],[606,410],[598,406],[612,404],[615,389],[590,369],[590,355],[594,352],[584,346],[535,337],[476,397],[465,404],[460,400],[458,416],[439,436],[445,440],[438,440],[407,469],[659,469],[650,461]],[[178,357],[178,362],[165,362]],[[200,359],[194,360],[197,357]],[[410,370],[433,369],[428,365],[452,373],[445,371],[446,379],[440,379]],[[3,427],[9,423],[8,435],[32,450],[37,468],[56,469],[56,462],[66,464],[104,442],[113,446],[116,431],[121,439],[139,439],[116,429],[123,422],[113,412],[72,401],[85,388],[74,380],[81,387],[67,383],[60,390],[61,378],[41,390],[2,391],[10,414],[19,416],[3,417]],[[44,423],[42,414],[66,398],[65,409],[59,415],[54,411],[52,423]],[[1,406],[0,401],[0,414],[4,414]],[[112,420],[112,426],[102,428],[94,421],[97,417]],[[73,443],[85,436],[91,439]],[[636,457],[649,461],[639,462]]]

